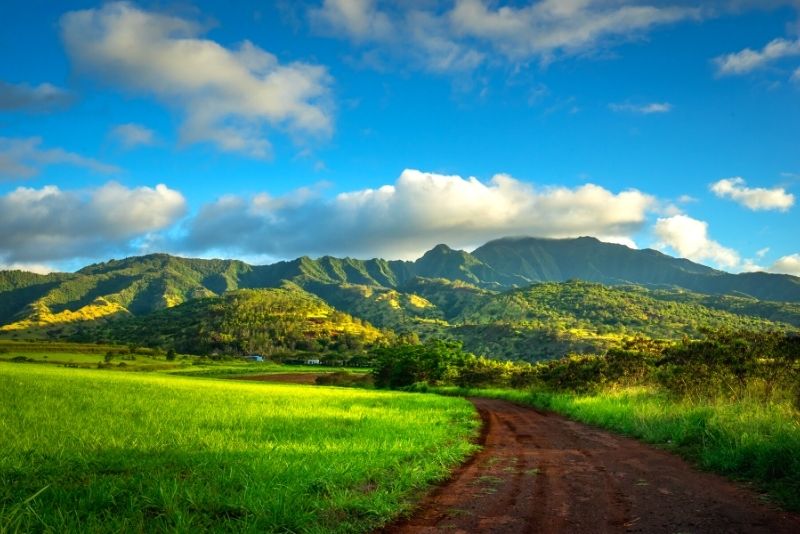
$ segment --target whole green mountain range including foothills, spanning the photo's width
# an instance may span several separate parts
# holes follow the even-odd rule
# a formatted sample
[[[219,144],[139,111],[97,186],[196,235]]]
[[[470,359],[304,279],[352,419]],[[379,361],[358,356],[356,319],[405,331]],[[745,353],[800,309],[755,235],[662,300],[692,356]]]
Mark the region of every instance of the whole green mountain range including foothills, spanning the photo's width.
[[[246,289],[266,293],[256,297],[241,292]],[[490,241],[471,253],[437,245],[416,261],[304,256],[249,265],[152,254],[75,273],[2,271],[0,334],[111,341],[132,341],[136,335],[169,345],[174,335],[147,333],[146,325],[157,330],[153,325],[168,324],[170,314],[185,319],[194,313],[219,326],[209,322],[210,307],[197,302],[217,299],[230,307],[248,301],[252,309],[255,301],[263,311],[275,302],[277,290],[288,292],[281,294],[283,300],[288,294],[311,302],[310,296],[315,304],[308,309],[315,311],[307,315],[316,317],[316,325],[320,310],[323,316],[344,312],[337,317],[347,317],[346,328],[297,326],[311,337],[353,332],[358,321],[359,332],[361,324],[367,325],[367,342],[410,332],[455,337],[467,348],[504,358],[598,350],[628,335],[670,338],[695,335],[704,327],[800,326],[798,277],[730,274],[590,237],[523,237]],[[246,316],[234,322],[240,325]],[[134,323],[139,326],[132,328]],[[385,335],[373,332],[373,326]],[[186,336],[181,339],[181,347],[193,348]],[[319,344],[320,350],[329,341]],[[210,347],[206,343],[203,350]]]

